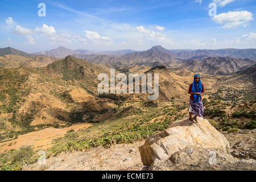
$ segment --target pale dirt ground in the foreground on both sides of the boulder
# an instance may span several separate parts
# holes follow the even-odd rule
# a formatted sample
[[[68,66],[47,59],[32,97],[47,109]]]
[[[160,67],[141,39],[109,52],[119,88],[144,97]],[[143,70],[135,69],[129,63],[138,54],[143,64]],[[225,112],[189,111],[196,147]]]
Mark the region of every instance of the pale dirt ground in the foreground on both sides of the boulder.
[[[233,154],[248,154],[245,158],[233,158],[232,156],[223,156],[218,158],[217,165],[209,165],[208,154],[203,155],[203,150],[195,150],[194,157],[190,155],[180,156],[180,162],[173,163],[168,160],[164,166],[158,170],[256,170],[256,160],[250,158],[255,151],[255,134],[256,130],[241,130],[238,133],[223,133],[229,140],[230,148]],[[245,142],[241,142],[245,141]],[[97,147],[91,148],[85,152],[61,153],[59,156],[46,159],[46,165],[39,163],[26,166],[23,170],[144,170],[139,146],[144,144],[140,140],[133,144],[116,144],[110,148]],[[240,145],[239,145],[240,144]],[[238,146],[238,147],[236,147]],[[183,152],[184,153],[184,152]],[[181,153],[182,154],[182,153]],[[234,156],[234,155],[233,155]],[[232,158],[232,160],[226,160]],[[194,160],[195,159],[195,160]]]

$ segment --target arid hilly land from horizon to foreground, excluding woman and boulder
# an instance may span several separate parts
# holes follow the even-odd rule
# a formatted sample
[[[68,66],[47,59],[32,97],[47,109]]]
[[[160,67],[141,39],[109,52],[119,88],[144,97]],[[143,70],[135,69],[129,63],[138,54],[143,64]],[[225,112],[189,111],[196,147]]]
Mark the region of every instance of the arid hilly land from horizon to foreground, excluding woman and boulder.
[[[191,154],[180,148],[175,160],[152,169],[255,170],[255,59],[245,56],[254,49],[237,50],[244,53],[237,57],[235,50],[177,53],[159,46],[106,55],[84,51],[61,47],[34,56],[1,49],[1,170],[147,170],[139,147],[188,117],[195,73],[205,86],[204,118],[230,150],[216,148],[220,158],[211,165],[204,145],[193,146]],[[148,93],[98,94],[97,77],[110,75],[110,68],[116,75],[158,73],[158,99],[148,100]],[[39,151],[46,152],[45,165],[37,163]]]

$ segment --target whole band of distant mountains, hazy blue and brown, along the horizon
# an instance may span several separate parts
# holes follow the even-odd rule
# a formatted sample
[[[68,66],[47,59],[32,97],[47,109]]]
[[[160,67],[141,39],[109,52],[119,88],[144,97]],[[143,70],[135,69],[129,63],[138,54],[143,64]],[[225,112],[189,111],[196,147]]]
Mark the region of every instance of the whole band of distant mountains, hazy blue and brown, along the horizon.
[[[0,57],[0,68],[45,67],[53,63],[53,61],[58,60],[59,58],[57,57],[64,55],[67,57],[67,55],[72,54],[73,57],[78,59],[83,59],[94,64],[105,64],[110,68],[116,68],[123,72],[129,71],[131,68],[134,68],[133,71],[136,71],[135,68],[141,69],[144,67],[145,69],[149,69],[158,65],[166,65],[168,68],[179,67],[212,75],[228,75],[254,65],[255,59],[238,57],[254,57],[255,50],[256,49],[219,49],[173,51],[165,49],[162,46],[154,46],[146,51],[139,52],[128,49],[114,52],[107,51],[105,52],[106,54],[101,55],[101,52],[89,54],[93,51],[90,52],[88,49],[76,49],[76,51],[73,51],[72,49],[59,47],[51,51],[41,52],[45,55],[30,55],[26,52],[8,47],[0,49],[2,54]],[[122,55],[122,53],[125,54]],[[49,57],[54,55],[56,57]],[[236,57],[230,57],[229,55]],[[65,57],[63,57],[63,59]],[[184,59],[189,57],[193,59]]]

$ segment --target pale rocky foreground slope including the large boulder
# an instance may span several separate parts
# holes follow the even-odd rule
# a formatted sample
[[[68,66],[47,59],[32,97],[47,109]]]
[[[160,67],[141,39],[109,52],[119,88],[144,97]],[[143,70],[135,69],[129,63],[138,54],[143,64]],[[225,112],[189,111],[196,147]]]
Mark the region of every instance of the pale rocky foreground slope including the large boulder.
[[[254,159],[230,155],[247,144],[255,146],[255,134],[243,131],[241,137],[224,137],[206,119],[191,123],[186,118],[146,140],[62,153],[46,159],[45,165],[26,165],[23,170],[255,170]]]

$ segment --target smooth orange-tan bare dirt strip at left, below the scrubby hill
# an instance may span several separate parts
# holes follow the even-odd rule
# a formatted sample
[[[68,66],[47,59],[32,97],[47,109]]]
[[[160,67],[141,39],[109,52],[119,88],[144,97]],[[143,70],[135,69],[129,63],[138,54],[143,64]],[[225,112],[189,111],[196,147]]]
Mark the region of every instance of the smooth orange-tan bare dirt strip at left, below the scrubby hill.
[[[53,139],[63,137],[65,134],[67,134],[68,130],[73,129],[77,131],[84,127],[89,127],[90,125],[90,123],[76,123],[75,125],[66,127],[64,129],[48,127],[47,129],[20,135],[17,139],[0,143],[0,154],[11,149],[18,149],[21,146],[34,146],[35,150],[45,150],[46,148],[51,147],[51,142]]]

